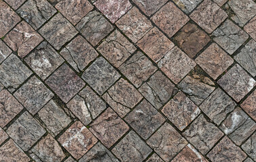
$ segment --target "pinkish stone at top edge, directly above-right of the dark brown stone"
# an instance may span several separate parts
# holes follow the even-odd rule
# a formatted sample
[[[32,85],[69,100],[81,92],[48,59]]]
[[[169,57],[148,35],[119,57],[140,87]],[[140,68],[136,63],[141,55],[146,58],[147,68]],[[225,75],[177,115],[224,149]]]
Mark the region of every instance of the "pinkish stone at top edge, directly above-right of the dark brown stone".
[[[190,18],[210,34],[227,18],[227,14],[213,1],[204,0]]]

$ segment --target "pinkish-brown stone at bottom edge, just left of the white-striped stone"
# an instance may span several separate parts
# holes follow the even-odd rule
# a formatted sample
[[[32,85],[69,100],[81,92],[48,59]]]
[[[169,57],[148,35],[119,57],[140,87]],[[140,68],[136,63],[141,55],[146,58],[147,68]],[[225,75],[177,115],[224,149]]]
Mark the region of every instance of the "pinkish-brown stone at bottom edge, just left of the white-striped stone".
[[[187,140],[165,123],[155,134],[153,134],[147,144],[153,148],[164,161],[170,161],[187,145]]]

